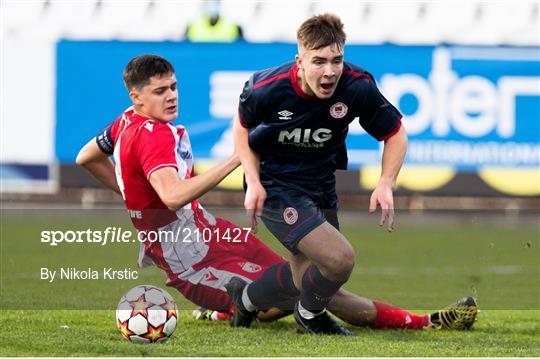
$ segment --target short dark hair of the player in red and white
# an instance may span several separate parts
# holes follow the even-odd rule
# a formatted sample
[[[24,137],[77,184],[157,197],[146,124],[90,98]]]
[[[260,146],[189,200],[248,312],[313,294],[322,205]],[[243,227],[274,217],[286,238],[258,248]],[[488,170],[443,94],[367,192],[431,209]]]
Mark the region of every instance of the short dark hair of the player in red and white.
[[[174,67],[165,58],[157,55],[134,57],[124,69],[124,84],[128,91],[141,89],[150,83],[154,76],[174,74]]]

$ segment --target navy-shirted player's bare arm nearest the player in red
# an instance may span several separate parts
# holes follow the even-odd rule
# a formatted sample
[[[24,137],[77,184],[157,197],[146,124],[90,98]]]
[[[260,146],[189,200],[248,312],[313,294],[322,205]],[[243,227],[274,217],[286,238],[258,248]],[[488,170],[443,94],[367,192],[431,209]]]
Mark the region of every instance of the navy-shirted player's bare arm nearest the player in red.
[[[238,115],[234,118],[233,134],[234,147],[242,162],[246,176],[247,190],[244,207],[247,210],[251,231],[257,233],[256,216],[262,215],[264,201],[266,200],[266,191],[259,178],[259,158],[249,147],[249,131],[241,125]]]

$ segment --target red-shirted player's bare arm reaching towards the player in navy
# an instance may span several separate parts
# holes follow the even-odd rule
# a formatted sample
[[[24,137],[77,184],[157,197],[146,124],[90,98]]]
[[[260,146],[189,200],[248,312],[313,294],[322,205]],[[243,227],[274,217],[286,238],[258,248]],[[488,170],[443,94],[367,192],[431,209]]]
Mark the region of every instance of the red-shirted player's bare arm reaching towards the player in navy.
[[[174,167],[163,167],[152,172],[149,181],[167,208],[176,211],[217,186],[239,165],[240,160],[235,154],[209,171],[192,178],[179,179]]]

